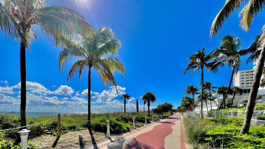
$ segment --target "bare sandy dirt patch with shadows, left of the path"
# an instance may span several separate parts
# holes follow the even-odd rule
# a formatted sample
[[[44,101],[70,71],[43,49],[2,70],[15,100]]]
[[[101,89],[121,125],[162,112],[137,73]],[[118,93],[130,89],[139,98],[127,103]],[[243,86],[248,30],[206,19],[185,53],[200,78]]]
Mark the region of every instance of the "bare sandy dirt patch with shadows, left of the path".
[[[89,148],[93,146],[92,142],[100,143],[108,139],[104,133],[92,131],[92,137],[89,130],[80,130],[75,132],[68,132],[61,135],[61,137],[56,137],[52,135],[42,135],[41,137],[33,138],[29,141],[37,145],[38,148],[62,148],[62,149],[72,149],[72,148]]]

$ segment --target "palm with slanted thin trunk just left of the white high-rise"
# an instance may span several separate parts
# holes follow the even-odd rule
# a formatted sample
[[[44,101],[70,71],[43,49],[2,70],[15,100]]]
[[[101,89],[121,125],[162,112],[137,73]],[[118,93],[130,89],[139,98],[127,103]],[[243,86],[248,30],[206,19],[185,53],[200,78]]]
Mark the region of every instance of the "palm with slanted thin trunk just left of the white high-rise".
[[[221,104],[225,102],[225,99],[228,95],[228,91],[231,88],[233,75],[239,71],[239,68],[241,66],[240,56],[245,55],[245,50],[241,49],[241,47],[242,45],[240,38],[235,37],[234,35],[226,35],[222,38],[221,45],[219,46],[219,48],[211,52],[211,54],[217,60],[222,60],[224,63],[226,63],[229,69],[232,69],[229,86],[226,91],[226,94],[223,96]]]

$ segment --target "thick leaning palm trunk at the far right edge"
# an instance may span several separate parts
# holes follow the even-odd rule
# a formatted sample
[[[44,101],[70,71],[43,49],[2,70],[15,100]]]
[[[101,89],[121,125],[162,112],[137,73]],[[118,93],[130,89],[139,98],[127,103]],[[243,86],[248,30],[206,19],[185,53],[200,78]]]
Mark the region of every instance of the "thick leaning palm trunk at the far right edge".
[[[246,107],[246,119],[240,131],[241,134],[245,134],[249,132],[250,122],[251,122],[253,110],[256,104],[259,83],[260,83],[260,79],[261,79],[263,68],[264,68],[264,62],[265,62],[265,44],[263,43],[262,50],[260,51],[260,55],[258,59],[257,68],[256,68],[255,75],[254,75],[253,84],[250,89],[249,100],[248,100],[248,104]]]

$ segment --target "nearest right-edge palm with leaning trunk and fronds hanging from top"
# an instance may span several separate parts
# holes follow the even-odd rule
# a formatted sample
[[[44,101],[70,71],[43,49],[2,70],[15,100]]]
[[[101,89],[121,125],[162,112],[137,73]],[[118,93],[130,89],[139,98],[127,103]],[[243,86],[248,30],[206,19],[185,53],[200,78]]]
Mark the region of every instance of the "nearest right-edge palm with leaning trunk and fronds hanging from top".
[[[257,16],[259,12],[262,11],[262,8],[264,8],[265,1],[256,1],[256,0],[251,0],[251,1],[226,1],[224,7],[219,11],[217,16],[215,17],[211,29],[210,29],[210,38],[213,36],[217,36],[218,32],[222,30],[222,26],[224,25],[224,22],[228,19],[233,14],[236,14],[238,10],[241,9],[239,13],[240,17],[240,27],[248,31],[250,29],[250,26],[252,24],[254,16]],[[262,43],[264,41],[264,34],[265,34],[265,28],[262,28],[262,35],[260,36],[261,38],[259,39]],[[258,63],[254,75],[254,80],[253,84],[250,90],[249,94],[249,101],[246,106],[246,119],[244,121],[244,124],[242,126],[242,129],[240,131],[241,134],[245,134],[249,132],[250,128],[250,122],[251,118],[253,115],[253,110],[255,107],[255,102],[258,94],[258,89],[259,89],[259,83],[260,79],[262,76],[262,71],[264,67],[264,62],[265,62],[265,44],[260,44],[261,51],[259,54],[258,58]]]

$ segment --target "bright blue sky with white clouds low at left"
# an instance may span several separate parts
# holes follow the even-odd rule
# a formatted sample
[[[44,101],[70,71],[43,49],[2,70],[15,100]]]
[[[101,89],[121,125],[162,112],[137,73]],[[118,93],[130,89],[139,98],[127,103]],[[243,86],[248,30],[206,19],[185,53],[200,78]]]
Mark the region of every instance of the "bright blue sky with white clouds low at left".
[[[123,104],[122,93],[133,97],[128,103],[129,110],[135,108],[136,98],[140,99],[146,91],[153,92],[157,101],[151,106],[164,102],[172,103],[174,108],[180,105],[185,86],[200,83],[200,72],[191,77],[183,76],[188,64],[188,56],[206,47],[206,53],[217,48],[226,34],[235,34],[241,38],[243,48],[247,48],[253,37],[261,32],[264,25],[264,13],[255,17],[251,30],[245,32],[239,28],[238,14],[226,21],[217,37],[209,40],[211,23],[222,1],[124,1],[79,0],[73,3],[55,3],[70,7],[86,17],[94,27],[108,26],[119,38],[122,48],[118,58],[126,65],[126,75],[115,73],[120,94],[117,95],[109,86],[104,87],[96,72],[92,71],[92,108],[107,111],[109,107]],[[19,111],[19,43],[6,39],[1,41],[0,94],[5,94],[0,103],[0,111]],[[46,38],[39,34],[38,41],[31,45],[31,52],[26,53],[28,103],[31,112],[45,111],[87,111],[87,71],[79,80],[78,76],[67,82],[67,73],[59,72],[60,49],[54,48]],[[252,69],[245,65],[247,56],[242,57],[241,70]],[[228,85],[232,71],[221,68],[217,74],[205,74],[205,81],[214,86]],[[6,81],[6,82],[5,82]],[[82,94],[83,93],[83,94]],[[0,95],[0,97],[1,97]],[[140,108],[143,108],[141,106]]]

